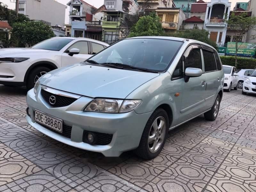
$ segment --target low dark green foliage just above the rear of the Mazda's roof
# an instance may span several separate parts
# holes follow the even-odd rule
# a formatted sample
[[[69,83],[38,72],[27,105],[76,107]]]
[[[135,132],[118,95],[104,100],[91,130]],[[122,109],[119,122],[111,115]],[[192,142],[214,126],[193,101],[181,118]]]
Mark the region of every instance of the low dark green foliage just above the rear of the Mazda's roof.
[[[185,30],[185,31],[176,31],[173,33],[163,33],[162,36],[172,36],[172,37],[181,37],[185,39],[194,39],[197,41],[204,42],[213,46],[216,50],[218,50],[218,46],[216,42],[212,41],[208,38],[209,32],[206,30]]]

